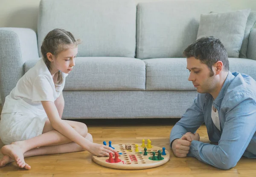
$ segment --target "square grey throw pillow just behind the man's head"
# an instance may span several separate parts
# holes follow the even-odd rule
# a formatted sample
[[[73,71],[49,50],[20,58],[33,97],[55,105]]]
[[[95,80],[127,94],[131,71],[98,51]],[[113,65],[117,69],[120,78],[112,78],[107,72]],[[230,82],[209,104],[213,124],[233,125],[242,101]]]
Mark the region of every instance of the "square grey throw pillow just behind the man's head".
[[[229,57],[239,57],[250,9],[202,14],[197,39],[214,36],[220,39]]]

